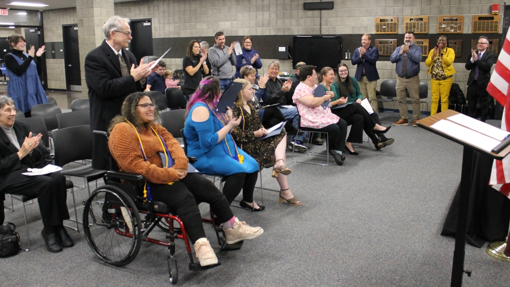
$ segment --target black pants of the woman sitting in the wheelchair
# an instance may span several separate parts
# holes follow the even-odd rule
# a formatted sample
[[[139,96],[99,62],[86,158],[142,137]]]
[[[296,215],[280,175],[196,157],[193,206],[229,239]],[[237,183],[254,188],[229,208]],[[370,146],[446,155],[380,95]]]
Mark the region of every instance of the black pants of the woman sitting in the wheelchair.
[[[209,203],[220,223],[234,217],[225,196],[209,179],[198,173],[188,173],[186,177],[171,185],[150,184],[150,193],[153,200],[165,203],[172,213],[181,218],[193,244],[198,239],[206,237],[198,209],[199,203]]]

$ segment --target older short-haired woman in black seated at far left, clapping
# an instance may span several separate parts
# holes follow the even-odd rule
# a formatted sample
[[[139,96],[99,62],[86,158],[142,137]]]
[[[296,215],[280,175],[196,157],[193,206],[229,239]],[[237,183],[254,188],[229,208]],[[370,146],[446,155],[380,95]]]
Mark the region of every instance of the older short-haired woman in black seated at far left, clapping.
[[[44,228],[41,236],[49,252],[60,252],[74,243],[62,224],[69,219],[65,177],[60,172],[27,176],[28,168],[42,168],[52,162],[49,151],[32,136],[24,122],[15,122],[14,101],[0,96],[0,194],[35,197],[39,202]],[[0,201],[0,224],[4,222],[4,201]]]

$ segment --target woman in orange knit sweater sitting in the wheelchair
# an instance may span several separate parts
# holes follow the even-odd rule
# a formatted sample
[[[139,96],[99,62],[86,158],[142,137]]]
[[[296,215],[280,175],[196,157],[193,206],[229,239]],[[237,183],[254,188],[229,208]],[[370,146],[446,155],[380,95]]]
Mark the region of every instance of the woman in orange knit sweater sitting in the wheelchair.
[[[198,173],[188,173],[184,150],[164,127],[154,123],[157,116],[149,96],[140,92],[127,96],[121,115],[110,124],[110,152],[121,171],[144,176],[147,198],[167,204],[181,218],[200,265],[217,264],[216,254],[203,230],[198,203],[210,204],[222,222],[227,244],[257,238],[264,230],[239,221],[225,196],[210,180]]]

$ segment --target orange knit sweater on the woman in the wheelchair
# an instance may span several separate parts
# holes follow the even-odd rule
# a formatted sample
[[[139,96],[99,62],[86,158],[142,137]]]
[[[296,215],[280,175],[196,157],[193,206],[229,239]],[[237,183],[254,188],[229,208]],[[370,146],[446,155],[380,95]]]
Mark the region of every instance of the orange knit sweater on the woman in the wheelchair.
[[[155,184],[168,184],[177,181],[175,169],[188,169],[186,154],[179,142],[163,126],[157,123],[152,123],[151,126],[165,140],[168,151],[175,161],[173,167],[163,168],[158,151],[164,151],[164,149],[150,128],[138,131],[145,156],[147,156],[148,162],[146,162],[143,159],[135,129],[126,122],[119,123],[113,128],[108,140],[110,153],[117,162],[120,171],[139,173],[147,181]]]

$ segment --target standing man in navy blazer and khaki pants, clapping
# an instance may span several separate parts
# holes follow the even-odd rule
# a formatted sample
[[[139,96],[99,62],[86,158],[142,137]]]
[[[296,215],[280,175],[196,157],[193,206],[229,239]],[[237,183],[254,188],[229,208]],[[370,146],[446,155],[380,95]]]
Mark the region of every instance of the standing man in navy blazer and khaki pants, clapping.
[[[379,80],[379,73],[375,63],[379,59],[379,51],[376,47],[370,45],[372,42],[372,35],[364,34],[361,37],[362,46],[354,50],[352,56],[352,65],[356,67],[356,74],[354,77],[360,84],[361,93],[363,98],[370,101],[370,105],[376,113],[378,113],[377,96],[375,89],[377,88],[377,80]]]

